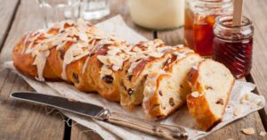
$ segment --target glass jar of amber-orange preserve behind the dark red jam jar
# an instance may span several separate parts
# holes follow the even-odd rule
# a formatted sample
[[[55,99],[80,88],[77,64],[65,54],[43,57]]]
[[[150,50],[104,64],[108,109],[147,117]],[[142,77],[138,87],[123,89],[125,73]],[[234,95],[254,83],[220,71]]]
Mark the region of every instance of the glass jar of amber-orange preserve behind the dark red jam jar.
[[[215,18],[232,14],[232,7],[232,0],[186,0],[184,23],[186,44],[202,56],[211,56]]]

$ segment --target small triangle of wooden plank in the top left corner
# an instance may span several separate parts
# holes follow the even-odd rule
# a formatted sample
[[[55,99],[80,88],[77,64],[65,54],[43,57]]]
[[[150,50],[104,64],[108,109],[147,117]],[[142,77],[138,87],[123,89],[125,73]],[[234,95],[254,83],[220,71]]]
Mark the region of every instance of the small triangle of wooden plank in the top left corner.
[[[11,27],[13,17],[18,8],[19,0],[1,1],[0,4],[0,49]]]

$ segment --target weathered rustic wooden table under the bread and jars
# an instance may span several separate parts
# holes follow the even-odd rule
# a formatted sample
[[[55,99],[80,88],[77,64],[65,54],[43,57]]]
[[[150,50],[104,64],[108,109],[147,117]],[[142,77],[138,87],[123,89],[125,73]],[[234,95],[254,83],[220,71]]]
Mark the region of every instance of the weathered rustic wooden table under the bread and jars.
[[[183,29],[169,31],[141,29],[131,20],[125,0],[110,0],[110,2],[111,14],[101,21],[121,14],[128,26],[144,37],[161,38],[167,45],[183,43]],[[267,0],[245,0],[244,8],[244,14],[254,22],[255,26],[253,69],[246,80],[255,83],[257,86],[255,93],[267,99],[267,17],[265,15]],[[1,0],[0,15],[0,62],[2,63],[11,60],[12,47],[22,34],[27,30],[42,28],[44,21],[36,0]],[[9,94],[18,90],[33,91],[33,88],[10,70],[1,69],[0,139],[101,139],[101,136],[74,121],[69,120],[72,123],[69,127],[57,111],[48,113],[44,106],[14,101]],[[260,131],[267,129],[266,112],[267,106],[204,139],[267,139],[267,136],[259,136]],[[240,131],[242,128],[251,127],[255,128],[253,136],[246,136]]]

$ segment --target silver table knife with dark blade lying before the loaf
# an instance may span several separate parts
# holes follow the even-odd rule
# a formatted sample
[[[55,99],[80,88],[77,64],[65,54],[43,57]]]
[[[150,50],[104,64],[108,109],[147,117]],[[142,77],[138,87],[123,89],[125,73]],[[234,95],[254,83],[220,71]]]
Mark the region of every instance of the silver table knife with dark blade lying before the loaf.
[[[187,139],[188,134],[184,128],[159,124],[144,119],[138,119],[125,114],[111,112],[101,106],[90,103],[82,103],[67,98],[44,95],[34,92],[15,92],[10,95],[14,99],[20,99],[31,103],[39,103],[52,106],[57,109],[71,111],[93,119],[106,121],[112,124],[133,128],[144,133],[161,136],[166,139]]]

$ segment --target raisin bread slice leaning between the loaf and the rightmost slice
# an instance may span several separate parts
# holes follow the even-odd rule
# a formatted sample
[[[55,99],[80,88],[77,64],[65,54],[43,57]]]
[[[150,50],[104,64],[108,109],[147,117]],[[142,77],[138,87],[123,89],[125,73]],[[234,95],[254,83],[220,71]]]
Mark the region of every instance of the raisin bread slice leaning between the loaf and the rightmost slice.
[[[152,73],[145,83],[142,106],[152,118],[166,118],[168,114],[185,103],[186,95],[191,92],[187,73],[202,58],[190,52],[175,60],[166,66],[166,73]]]

